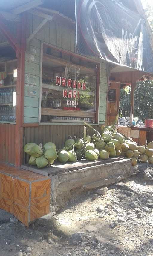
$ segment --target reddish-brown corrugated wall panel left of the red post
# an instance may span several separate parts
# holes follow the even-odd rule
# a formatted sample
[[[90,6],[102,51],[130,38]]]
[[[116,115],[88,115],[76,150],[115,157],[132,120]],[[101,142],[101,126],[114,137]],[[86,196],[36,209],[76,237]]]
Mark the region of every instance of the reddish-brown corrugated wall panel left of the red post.
[[[15,163],[15,128],[13,124],[0,124],[0,162]]]

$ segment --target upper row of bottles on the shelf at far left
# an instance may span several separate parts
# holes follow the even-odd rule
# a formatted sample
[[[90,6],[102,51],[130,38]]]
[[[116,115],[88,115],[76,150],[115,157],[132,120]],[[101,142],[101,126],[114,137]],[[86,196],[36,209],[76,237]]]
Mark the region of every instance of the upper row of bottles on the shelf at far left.
[[[0,104],[13,103],[14,88],[0,88]]]

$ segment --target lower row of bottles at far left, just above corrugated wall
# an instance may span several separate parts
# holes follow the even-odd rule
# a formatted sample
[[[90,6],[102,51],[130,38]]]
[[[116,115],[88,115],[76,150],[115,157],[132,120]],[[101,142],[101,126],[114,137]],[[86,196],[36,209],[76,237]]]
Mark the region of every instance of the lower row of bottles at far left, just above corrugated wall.
[[[0,121],[16,121],[16,107],[0,106]]]

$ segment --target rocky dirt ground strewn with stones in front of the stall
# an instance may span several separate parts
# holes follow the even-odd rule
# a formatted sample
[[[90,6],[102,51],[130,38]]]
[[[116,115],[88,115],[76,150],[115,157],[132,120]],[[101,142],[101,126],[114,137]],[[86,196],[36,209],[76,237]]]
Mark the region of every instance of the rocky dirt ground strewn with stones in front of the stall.
[[[30,228],[0,210],[0,256],[152,256],[153,181],[143,175],[111,185],[104,196],[85,194]]]

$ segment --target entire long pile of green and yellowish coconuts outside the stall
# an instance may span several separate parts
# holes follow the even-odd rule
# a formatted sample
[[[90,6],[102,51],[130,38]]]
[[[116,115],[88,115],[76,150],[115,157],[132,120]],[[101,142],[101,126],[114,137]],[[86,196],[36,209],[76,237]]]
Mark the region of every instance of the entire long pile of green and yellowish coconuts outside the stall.
[[[24,152],[30,155],[29,165],[41,169],[52,165],[56,159],[65,164],[83,159],[96,161],[98,158],[105,160],[119,156],[131,158],[133,166],[137,165],[137,161],[141,163],[148,161],[153,164],[153,142],[145,146],[137,146],[137,143],[131,138],[124,137],[117,132],[115,125],[102,125],[101,132],[87,123],[85,125],[94,131],[93,136],[86,134],[84,126],[84,136],[66,140],[64,147],[60,150],[57,150],[56,145],[52,142],[48,142],[44,146],[27,143],[24,146]]]

